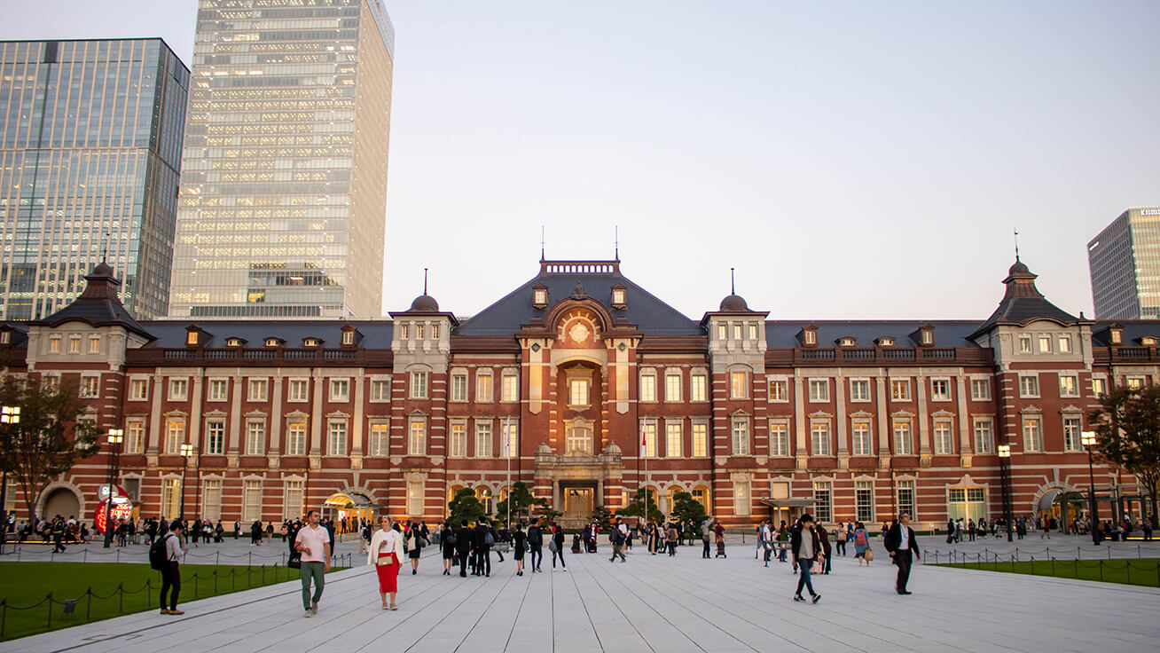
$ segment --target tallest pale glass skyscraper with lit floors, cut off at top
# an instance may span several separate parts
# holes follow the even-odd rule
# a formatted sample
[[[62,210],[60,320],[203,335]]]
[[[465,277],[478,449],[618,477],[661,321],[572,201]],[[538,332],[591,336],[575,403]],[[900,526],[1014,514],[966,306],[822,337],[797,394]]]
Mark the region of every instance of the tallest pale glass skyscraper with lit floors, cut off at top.
[[[380,0],[201,0],[169,315],[382,314]]]

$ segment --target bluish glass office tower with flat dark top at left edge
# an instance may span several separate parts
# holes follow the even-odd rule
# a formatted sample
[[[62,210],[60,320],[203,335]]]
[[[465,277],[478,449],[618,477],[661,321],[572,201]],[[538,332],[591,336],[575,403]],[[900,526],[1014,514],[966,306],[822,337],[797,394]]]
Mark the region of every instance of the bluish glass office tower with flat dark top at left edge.
[[[165,314],[188,87],[160,38],[0,42],[0,318],[56,312],[102,259]]]

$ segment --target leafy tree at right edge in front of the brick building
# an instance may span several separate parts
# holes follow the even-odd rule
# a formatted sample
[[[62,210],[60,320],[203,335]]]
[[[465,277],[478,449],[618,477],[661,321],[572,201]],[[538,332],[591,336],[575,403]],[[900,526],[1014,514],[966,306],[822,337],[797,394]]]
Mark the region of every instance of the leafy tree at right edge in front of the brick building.
[[[1160,387],[1115,387],[1100,396],[1100,408],[1088,423],[1099,436],[1095,448],[1101,457],[1128,470],[1148,493],[1152,525],[1160,525]]]

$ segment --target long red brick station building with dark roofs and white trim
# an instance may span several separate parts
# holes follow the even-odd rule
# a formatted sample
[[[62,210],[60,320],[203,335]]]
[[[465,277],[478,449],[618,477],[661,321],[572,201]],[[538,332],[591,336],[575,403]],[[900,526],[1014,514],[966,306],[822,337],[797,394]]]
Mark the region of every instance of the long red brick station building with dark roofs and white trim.
[[[87,419],[124,429],[117,478],[144,516],[437,520],[463,487],[501,500],[510,467],[575,521],[647,485],[727,523],[926,525],[1002,514],[1003,442],[1014,514],[1075,515],[1095,397],[1160,378],[1160,322],[1073,317],[1017,261],[989,318],[928,322],[770,320],[735,295],[695,320],[619,261],[542,261],[462,320],[425,295],[390,320],[138,322],[110,268],[87,280],[48,319],[0,325],[0,365],[78,377]],[[109,462],[55,480],[42,511],[90,516]],[[1105,465],[1096,485],[1138,494]]]

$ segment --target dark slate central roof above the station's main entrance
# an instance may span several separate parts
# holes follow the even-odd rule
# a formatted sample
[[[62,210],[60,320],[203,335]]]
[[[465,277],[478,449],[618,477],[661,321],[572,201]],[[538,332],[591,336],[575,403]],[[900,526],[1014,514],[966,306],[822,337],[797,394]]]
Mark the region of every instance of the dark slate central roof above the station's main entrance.
[[[522,325],[531,322],[534,317],[543,318],[551,311],[552,305],[571,296],[577,283],[583,286],[585,292],[590,298],[603,304],[612,314],[614,320],[623,317],[644,334],[704,335],[705,333],[697,322],[622,276],[619,262],[593,262],[612,270],[607,274],[550,271],[554,269],[553,266],[559,263],[544,261],[538,275],[499,302],[472,315],[459,325],[455,333],[457,335],[514,335]],[[612,286],[618,283],[624,285],[626,293],[628,302],[623,310],[612,309],[609,303],[612,297]],[[549,306],[546,309],[535,309],[531,305],[531,289],[536,284],[548,286]]]

